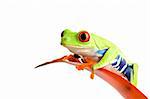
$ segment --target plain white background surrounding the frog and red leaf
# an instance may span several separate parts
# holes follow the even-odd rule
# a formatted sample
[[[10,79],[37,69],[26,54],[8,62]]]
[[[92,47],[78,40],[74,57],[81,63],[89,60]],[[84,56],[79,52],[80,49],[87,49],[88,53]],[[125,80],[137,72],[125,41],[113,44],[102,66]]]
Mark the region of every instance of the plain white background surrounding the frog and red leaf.
[[[139,64],[138,88],[150,97],[149,0],[1,0],[0,99],[122,99],[88,71],[57,63],[69,51],[60,33],[87,30],[118,45]]]

